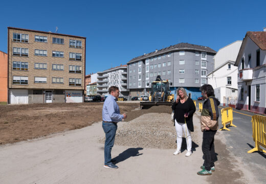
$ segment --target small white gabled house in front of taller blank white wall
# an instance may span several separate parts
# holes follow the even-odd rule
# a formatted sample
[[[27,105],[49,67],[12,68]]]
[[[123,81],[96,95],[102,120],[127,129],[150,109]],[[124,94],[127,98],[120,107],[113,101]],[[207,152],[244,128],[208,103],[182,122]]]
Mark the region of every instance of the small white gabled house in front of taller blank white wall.
[[[224,106],[229,102],[235,107],[237,99],[237,67],[234,61],[226,61],[207,75],[208,84],[214,88],[214,95]]]

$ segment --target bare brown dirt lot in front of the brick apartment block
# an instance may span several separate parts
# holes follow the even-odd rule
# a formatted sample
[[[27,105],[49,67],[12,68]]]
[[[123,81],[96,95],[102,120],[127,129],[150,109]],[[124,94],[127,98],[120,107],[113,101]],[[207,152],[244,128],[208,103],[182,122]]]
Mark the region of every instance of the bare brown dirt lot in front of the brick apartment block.
[[[139,103],[118,104],[121,113],[139,107]],[[1,105],[0,145],[90,126],[102,120],[102,106],[103,103]]]

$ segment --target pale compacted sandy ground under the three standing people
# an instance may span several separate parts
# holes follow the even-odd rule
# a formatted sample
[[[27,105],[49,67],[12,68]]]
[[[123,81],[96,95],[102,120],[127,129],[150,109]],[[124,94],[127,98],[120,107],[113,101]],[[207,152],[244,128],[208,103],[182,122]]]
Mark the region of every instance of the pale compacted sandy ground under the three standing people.
[[[119,123],[122,126],[125,122]],[[129,122],[130,123],[130,122]],[[199,114],[194,116],[194,129],[200,129]],[[202,137],[202,132],[197,131]],[[50,137],[0,147],[1,183],[253,183],[251,173],[243,170],[233,155],[218,153],[217,172],[212,176],[199,176],[203,164],[201,144],[190,157],[173,155],[174,150],[131,148],[114,146],[112,156],[119,156],[112,170],[103,168],[104,136],[101,122],[82,129],[58,133]],[[216,148],[225,149],[221,133],[216,136]],[[215,148],[215,149],[216,149]],[[216,151],[217,152],[217,151]],[[121,154],[122,153],[122,154]],[[120,154],[120,155],[119,155]],[[227,177],[234,160],[237,173]],[[220,162],[224,159],[224,162]],[[236,160],[236,161],[235,161]],[[231,173],[232,174],[232,173]],[[224,179],[223,177],[227,177]],[[218,179],[218,180],[217,180]]]

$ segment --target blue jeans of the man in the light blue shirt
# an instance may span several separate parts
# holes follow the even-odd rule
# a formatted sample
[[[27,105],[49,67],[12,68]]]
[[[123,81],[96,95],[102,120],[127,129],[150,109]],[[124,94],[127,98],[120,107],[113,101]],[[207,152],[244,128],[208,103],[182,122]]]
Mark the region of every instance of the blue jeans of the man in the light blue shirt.
[[[102,122],[102,128],[105,133],[104,165],[108,165],[112,163],[111,151],[115,143],[117,124]]]

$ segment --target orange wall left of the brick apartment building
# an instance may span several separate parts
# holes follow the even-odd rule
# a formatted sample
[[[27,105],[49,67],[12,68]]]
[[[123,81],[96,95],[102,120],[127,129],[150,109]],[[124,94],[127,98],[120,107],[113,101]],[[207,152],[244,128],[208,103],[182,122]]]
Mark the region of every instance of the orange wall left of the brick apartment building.
[[[0,51],[0,102],[6,102],[8,98],[7,68],[8,55]]]

